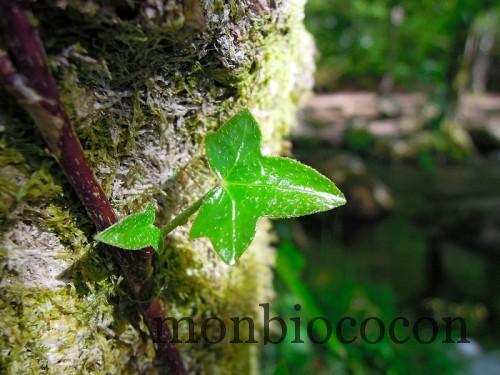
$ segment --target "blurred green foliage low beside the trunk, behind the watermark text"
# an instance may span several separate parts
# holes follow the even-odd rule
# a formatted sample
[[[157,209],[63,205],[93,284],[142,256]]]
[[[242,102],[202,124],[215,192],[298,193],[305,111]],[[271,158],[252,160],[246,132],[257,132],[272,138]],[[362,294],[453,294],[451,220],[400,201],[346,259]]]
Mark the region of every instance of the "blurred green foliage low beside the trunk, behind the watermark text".
[[[441,344],[441,339],[429,345],[418,344],[415,340],[398,345],[391,342],[386,334],[384,339],[376,345],[362,340],[356,340],[349,345],[341,345],[334,334],[325,345],[311,343],[306,336],[306,327],[307,323],[315,317],[326,317],[334,329],[339,319],[354,318],[358,326],[350,328],[344,325],[343,327],[346,337],[354,337],[359,335],[359,323],[367,317],[380,318],[386,324],[387,330],[391,320],[402,314],[398,312],[395,295],[390,288],[367,283],[356,278],[355,275],[348,276],[347,274],[338,276],[336,282],[333,283],[328,281],[320,283],[321,285],[311,285],[311,281],[304,276],[304,272],[311,272],[310,268],[306,267],[306,258],[300,249],[291,242],[285,241],[281,244],[278,252],[276,281],[280,298],[275,302],[274,311],[284,319],[299,315],[302,324],[301,337],[306,339],[304,344],[291,343],[291,339],[287,338],[280,345],[267,346],[266,362],[285,361],[289,373],[297,375],[310,373],[319,375],[460,374],[463,364],[455,351],[456,347]],[[321,305],[324,309],[316,302],[318,296],[324,297],[319,298],[322,300]],[[301,304],[301,313],[293,311],[292,307],[296,303]],[[407,329],[403,331],[401,328],[396,326],[397,337],[404,337],[408,334]],[[316,334],[317,337],[326,336],[321,329]],[[378,333],[368,330],[367,334],[373,339]]]

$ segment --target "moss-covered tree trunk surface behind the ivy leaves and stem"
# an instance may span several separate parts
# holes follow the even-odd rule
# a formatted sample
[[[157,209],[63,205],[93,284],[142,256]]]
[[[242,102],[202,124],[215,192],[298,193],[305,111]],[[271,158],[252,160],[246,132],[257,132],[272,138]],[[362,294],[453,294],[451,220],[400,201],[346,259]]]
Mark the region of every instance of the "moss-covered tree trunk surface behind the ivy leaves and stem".
[[[65,106],[120,214],[152,200],[165,222],[201,196],[211,184],[203,137],[241,108],[260,121],[265,152],[287,151],[283,137],[311,86],[312,43],[303,1],[269,3],[34,3]],[[123,276],[3,91],[0,114],[0,372],[161,372]],[[170,315],[256,317],[272,294],[269,223],[234,267],[207,241],[189,241],[188,227],[156,259]],[[190,372],[256,373],[258,346],[231,336],[179,345]]]

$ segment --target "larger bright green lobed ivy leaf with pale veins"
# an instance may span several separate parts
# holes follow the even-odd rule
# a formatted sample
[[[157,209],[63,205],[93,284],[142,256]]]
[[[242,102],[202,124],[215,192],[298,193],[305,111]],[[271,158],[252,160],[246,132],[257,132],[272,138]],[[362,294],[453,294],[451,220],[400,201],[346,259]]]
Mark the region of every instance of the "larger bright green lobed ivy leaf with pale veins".
[[[205,141],[220,185],[204,199],[191,237],[208,237],[227,264],[250,245],[260,217],[309,215],[346,202],[328,178],[295,160],[262,155],[260,143],[259,126],[248,110]]]

